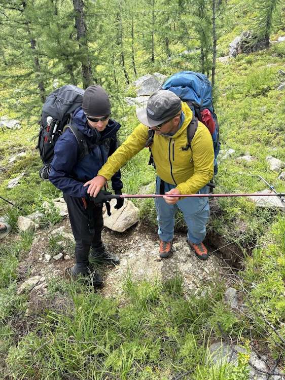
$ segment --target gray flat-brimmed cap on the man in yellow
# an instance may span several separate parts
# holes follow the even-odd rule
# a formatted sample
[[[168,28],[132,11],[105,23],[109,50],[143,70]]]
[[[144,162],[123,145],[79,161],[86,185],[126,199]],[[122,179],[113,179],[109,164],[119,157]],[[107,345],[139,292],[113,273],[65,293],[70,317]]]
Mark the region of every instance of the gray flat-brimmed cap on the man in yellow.
[[[149,97],[146,108],[136,111],[136,116],[140,123],[156,127],[174,118],[180,110],[181,100],[177,95],[169,90],[158,90]]]

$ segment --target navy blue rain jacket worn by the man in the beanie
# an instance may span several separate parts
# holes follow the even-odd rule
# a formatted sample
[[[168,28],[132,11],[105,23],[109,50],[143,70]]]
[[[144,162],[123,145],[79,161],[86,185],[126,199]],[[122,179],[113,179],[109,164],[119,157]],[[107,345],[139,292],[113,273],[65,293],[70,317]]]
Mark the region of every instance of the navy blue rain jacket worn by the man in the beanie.
[[[94,178],[108,157],[117,149],[116,134],[121,125],[110,119],[104,131],[98,132],[88,126],[81,107],[74,112],[71,122],[86,136],[89,154],[79,161],[77,139],[73,132],[67,129],[56,141],[49,180],[63,193],[86,198],[88,186],[83,187],[83,182]],[[120,171],[114,174],[111,181],[115,191],[123,187]]]

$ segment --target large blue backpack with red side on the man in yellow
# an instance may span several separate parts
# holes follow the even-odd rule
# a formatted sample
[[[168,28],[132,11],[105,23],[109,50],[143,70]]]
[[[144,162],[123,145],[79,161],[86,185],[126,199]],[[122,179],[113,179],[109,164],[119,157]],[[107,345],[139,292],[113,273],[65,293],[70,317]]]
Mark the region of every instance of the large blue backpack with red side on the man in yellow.
[[[193,119],[187,127],[188,148],[198,126],[198,120],[205,124],[211,133],[215,154],[214,175],[218,173],[217,157],[220,151],[220,129],[213,109],[212,86],[205,74],[194,71],[181,71],[169,77],[162,86],[163,90],[174,92],[186,102],[193,112]]]

